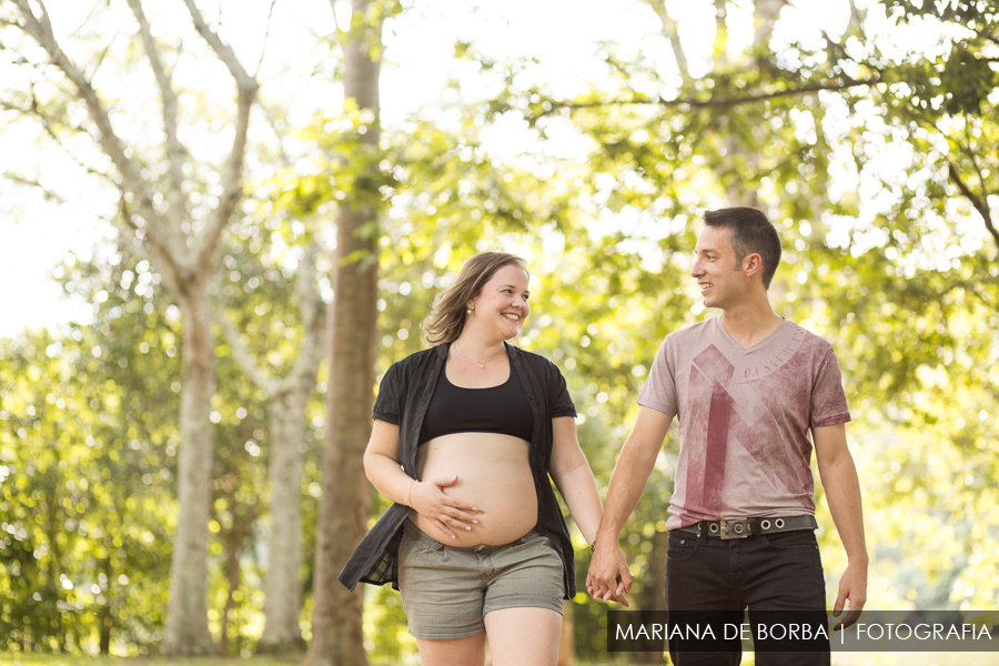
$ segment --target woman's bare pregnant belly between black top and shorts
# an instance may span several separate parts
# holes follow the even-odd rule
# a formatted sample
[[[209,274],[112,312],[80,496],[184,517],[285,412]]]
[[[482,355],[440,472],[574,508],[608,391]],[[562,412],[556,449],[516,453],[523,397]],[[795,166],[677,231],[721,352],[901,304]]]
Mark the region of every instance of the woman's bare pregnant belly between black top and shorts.
[[[416,453],[421,481],[457,474],[444,493],[482,512],[471,531],[452,527],[451,538],[432,521],[413,512],[420,529],[448,546],[500,546],[516,541],[537,524],[537,493],[531,474],[529,444],[497,433],[455,433],[423,444]]]

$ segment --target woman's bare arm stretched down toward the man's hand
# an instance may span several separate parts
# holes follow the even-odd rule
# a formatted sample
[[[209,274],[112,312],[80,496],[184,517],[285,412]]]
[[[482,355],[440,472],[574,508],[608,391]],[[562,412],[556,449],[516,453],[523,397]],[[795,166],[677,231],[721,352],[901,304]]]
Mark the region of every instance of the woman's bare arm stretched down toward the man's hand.
[[[587,544],[596,538],[604,506],[597,492],[596,480],[589,470],[589,463],[579,448],[576,438],[576,420],[572,416],[559,416],[552,420],[554,445],[548,472],[555,486],[562,493],[573,521],[583,533]]]

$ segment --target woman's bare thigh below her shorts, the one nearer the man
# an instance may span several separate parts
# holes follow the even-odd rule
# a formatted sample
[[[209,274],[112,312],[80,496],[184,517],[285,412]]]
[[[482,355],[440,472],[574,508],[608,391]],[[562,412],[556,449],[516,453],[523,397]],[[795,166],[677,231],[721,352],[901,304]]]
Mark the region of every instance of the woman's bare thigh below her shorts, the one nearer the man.
[[[555,666],[562,615],[548,608],[503,608],[485,616],[493,666]]]

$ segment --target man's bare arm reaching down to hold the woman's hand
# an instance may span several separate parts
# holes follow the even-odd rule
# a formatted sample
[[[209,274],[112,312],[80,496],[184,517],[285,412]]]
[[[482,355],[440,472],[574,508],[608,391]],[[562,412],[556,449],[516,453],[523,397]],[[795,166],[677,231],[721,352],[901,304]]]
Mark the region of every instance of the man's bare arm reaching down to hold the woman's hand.
[[[673,416],[640,407],[635,427],[620,450],[610,475],[607,504],[586,576],[586,591],[596,599],[613,599],[628,605],[622,593],[632,594],[632,573],[618,539],[625,522],[645,492],[645,484],[672,422]]]

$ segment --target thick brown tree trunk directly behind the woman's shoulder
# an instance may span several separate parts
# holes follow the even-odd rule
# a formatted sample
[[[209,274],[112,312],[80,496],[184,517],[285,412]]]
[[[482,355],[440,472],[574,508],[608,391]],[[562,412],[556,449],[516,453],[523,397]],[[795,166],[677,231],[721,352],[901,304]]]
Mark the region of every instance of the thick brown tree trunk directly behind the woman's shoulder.
[[[379,144],[379,61],[382,27],[357,26],[373,0],[352,0],[350,39],[344,43],[344,97],[373,113],[361,140]],[[359,179],[359,182],[363,179]],[[372,183],[376,182],[374,180]],[[372,184],[372,188],[375,185]],[[315,612],[312,666],[362,666],[367,663],[361,626],[361,591],[349,593],[336,579],[354,546],[364,536],[371,513],[371,490],[362,456],[371,436],[377,333],[377,192],[356,192],[341,208],[336,230],[335,296],[332,305],[330,389],[326,392],[326,440],[323,447],[323,494],[316,535]]]

